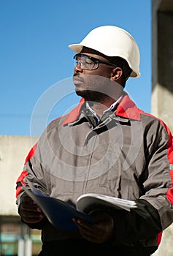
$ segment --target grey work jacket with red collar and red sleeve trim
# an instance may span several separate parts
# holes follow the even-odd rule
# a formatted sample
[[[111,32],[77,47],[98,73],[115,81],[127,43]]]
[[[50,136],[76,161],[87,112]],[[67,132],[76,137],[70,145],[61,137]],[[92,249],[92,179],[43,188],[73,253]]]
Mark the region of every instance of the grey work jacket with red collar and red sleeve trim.
[[[139,110],[124,94],[99,124],[81,99],[77,108],[50,122],[31,148],[17,181],[20,206],[26,177],[51,197],[71,201],[92,192],[135,200],[138,208],[109,211],[115,221],[111,245],[158,246],[173,222],[173,143],[163,121]],[[42,241],[81,238],[78,230],[58,230],[48,221]]]

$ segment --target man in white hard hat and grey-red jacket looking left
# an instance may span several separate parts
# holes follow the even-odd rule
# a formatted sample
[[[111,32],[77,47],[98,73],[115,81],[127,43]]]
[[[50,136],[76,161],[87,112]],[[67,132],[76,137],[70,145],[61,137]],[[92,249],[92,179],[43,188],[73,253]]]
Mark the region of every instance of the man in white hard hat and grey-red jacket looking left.
[[[121,28],[100,26],[69,48],[82,99],[48,125],[28,154],[17,181],[18,212],[29,227],[42,229],[40,255],[68,245],[76,252],[112,246],[115,255],[151,255],[173,221],[173,146],[166,124],[139,110],[124,91],[129,77],[140,76],[137,42]],[[74,205],[91,192],[135,200],[137,208],[96,209],[89,213],[94,223],[73,217],[77,229],[58,230],[23,192],[27,179]]]

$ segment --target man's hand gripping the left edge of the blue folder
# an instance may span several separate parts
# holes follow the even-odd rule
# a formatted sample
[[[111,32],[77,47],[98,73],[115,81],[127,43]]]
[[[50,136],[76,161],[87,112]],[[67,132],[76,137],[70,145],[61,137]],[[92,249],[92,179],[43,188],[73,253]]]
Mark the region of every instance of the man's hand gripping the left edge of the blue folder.
[[[45,214],[28,195],[22,198],[18,212],[26,223],[35,224],[45,218]]]

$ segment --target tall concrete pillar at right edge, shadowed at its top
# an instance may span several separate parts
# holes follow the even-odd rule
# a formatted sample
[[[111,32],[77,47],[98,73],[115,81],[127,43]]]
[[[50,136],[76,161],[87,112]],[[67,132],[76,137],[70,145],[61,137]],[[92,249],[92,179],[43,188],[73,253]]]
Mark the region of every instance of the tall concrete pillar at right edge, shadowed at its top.
[[[151,111],[173,132],[173,1],[152,1],[152,105]],[[172,256],[173,225],[164,230],[154,256]]]

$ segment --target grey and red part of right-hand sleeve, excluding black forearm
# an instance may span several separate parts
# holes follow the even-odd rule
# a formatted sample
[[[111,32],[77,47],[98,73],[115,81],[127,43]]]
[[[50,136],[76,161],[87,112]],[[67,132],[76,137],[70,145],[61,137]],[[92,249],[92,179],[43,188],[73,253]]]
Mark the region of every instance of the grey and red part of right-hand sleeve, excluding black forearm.
[[[147,137],[147,136],[146,136]],[[147,138],[146,138],[147,141]],[[162,230],[173,222],[173,138],[169,128],[158,120],[155,135],[147,143],[143,195],[161,219]]]

